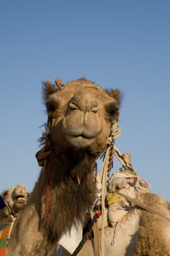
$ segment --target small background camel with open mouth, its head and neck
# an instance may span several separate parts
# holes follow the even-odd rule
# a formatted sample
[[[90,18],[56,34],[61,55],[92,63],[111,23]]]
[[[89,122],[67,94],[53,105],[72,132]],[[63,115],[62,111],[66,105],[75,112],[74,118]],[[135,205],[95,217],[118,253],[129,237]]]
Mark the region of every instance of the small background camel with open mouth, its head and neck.
[[[23,184],[18,184],[16,187],[5,189],[1,193],[1,197],[7,207],[0,211],[0,226],[12,222],[13,218],[18,217],[20,211],[26,206],[29,193]]]

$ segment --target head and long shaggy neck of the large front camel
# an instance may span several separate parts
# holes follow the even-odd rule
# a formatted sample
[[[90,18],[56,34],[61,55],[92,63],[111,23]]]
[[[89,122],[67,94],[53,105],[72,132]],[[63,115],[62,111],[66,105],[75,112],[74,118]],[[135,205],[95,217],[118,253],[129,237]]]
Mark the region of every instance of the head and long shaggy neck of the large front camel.
[[[7,256],[51,256],[64,233],[85,225],[96,199],[96,159],[119,117],[120,90],[85,78],[43,86],[47,124],[36,154],[42,170],[15,220]]]

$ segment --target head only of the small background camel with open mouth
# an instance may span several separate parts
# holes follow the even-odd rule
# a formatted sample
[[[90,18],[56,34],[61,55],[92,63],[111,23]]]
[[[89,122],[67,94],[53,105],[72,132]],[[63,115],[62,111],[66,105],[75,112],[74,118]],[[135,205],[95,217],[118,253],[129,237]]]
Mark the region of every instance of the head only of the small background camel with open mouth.
[[[9,205],[15,216],[26,206],[28,196],[29,193],[23,184],[18,184],[17,187],[11,187],[2,192],[5,203]],[[6,210],[4,214],[8,215],[9,213]]]

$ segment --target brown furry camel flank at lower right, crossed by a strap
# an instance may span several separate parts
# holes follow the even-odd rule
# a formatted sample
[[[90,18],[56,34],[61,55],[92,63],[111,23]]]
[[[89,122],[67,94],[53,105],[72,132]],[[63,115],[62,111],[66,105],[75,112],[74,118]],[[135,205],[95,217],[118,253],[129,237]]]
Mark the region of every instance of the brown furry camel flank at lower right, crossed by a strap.
[[[140,197],[148,206],[161,211],[165,216],[170,216],[169,203],[163,197],[151,193],[140,195]],[[169,256],[169,238],[170,223],[162,217],[142,211],[135,256]]]

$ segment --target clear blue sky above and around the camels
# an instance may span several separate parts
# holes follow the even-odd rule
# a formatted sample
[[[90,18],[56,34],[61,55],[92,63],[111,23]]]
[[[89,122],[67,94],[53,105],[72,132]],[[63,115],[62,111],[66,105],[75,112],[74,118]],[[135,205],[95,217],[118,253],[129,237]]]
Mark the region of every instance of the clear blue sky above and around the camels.
[[[170,200],[169,0],[1,1],[0,45],[0,191],[39,176],[42,81],[85,77],[123,92],[116,146]]]

